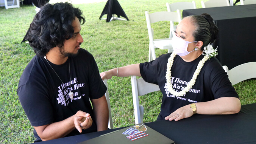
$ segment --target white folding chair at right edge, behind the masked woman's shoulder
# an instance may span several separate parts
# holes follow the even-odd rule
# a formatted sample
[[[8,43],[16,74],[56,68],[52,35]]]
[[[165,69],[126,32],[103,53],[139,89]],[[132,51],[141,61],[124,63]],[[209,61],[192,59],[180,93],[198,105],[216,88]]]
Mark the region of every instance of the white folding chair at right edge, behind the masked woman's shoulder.
[[[247,79],[256,78],[256,62],[243,63],[232,68],[231,70],[228,70],[228,67],[224,65],[223,69],[228,74],[228,79],[232,85]]]

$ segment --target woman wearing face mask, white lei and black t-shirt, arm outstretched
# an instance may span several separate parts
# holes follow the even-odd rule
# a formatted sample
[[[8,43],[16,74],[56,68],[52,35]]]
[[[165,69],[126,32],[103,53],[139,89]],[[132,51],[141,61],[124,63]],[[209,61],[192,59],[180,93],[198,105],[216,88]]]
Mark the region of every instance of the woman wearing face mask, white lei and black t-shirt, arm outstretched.
[[[178,121],[195,113],[238,113],[239,96],[214,57],[216,50],[209,45],[218,33],[211,15],[185,17],[174,33],[173,53],[163,54],[151,62],[105,71],[100,73],[101,78],[135,75],[159,85],[163,98],[158,120]]]

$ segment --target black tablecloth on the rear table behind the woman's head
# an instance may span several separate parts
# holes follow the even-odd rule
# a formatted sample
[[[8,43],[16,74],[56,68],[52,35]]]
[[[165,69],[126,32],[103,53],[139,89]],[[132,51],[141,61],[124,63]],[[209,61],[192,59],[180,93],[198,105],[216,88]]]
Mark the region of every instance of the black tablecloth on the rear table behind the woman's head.
[[[225,6],[183,10],[183,17],[208,13],[219,28],[218,55],[229,70],[256,61],[256,5]]]

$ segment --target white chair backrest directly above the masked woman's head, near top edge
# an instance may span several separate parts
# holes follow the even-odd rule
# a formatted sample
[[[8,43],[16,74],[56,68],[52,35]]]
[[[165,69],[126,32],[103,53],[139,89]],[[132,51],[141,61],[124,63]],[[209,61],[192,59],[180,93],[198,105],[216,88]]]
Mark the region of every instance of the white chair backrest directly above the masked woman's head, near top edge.
[[[166,3],[167,6],[167,11],[172,11],[175,12],[178,10],[183,10],[183,9],[196,9],[197,7],[195,6],[195,1],[193,0],[191,2],[176,2],[176,3]]]

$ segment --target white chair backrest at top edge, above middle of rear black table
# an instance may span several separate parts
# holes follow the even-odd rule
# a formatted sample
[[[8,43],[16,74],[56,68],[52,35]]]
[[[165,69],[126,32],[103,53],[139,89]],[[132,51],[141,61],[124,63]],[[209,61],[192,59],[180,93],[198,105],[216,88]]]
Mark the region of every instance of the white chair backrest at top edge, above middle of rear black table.
[[[213,8],[220,6],[230,6],[228,0],[208,0],[207,2],[201,1],[202,8]]]

